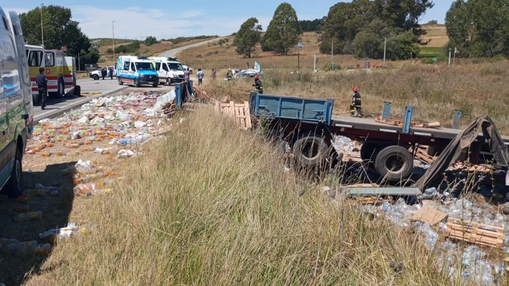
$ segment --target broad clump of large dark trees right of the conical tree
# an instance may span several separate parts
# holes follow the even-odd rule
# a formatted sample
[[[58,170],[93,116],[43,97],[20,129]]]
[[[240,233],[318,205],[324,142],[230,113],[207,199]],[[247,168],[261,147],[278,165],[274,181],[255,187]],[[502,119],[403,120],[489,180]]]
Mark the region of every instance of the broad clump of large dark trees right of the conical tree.
[[[414,44],[427,44],[420,37],[426,31],[419,17],[433,7],[430,0],[353,0],[329,9],[321,24],[322,53],[354,53],[381,58],[380,41],[393,45],[393,58],[408,58],[417,51]],[[410,34],[409,34],[410,33]],[[411,41],[411,42],[408,42]],[[383,46],[382,46],[383,51]]]

